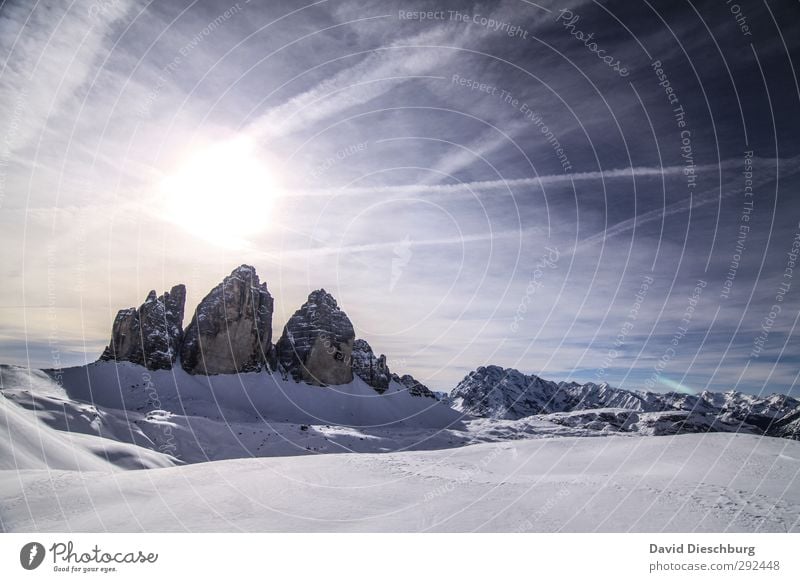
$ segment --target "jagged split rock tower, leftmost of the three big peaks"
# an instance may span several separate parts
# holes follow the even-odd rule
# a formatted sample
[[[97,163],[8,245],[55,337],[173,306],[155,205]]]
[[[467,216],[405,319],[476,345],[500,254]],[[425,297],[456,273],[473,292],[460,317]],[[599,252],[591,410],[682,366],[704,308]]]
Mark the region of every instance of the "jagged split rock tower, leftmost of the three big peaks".
[[[183,339],[186,287],[176,285],[160,297],[150,291],[136,309],[122,309],[114,319],[111,343],[101,360],[132,362],[150,370],[169,370]]]

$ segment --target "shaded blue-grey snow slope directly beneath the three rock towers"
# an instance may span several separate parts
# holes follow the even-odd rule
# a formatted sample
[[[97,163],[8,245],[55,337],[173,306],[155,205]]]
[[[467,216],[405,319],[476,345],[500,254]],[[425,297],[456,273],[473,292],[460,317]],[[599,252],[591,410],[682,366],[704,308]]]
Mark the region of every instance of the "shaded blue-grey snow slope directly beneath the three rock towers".
[[[360,378],[322,388],[277,373],[194,376],[177,366],[148,371],[128,362],[68,368],[62,378],[67,393],[76,400],[129,411],[156,408],[226,421],[255,418],[360,428],[443,428],[463,416],[434,399],[411,396],[396,382],[378,394]],[[155,396],[158,402],[154,402]]]

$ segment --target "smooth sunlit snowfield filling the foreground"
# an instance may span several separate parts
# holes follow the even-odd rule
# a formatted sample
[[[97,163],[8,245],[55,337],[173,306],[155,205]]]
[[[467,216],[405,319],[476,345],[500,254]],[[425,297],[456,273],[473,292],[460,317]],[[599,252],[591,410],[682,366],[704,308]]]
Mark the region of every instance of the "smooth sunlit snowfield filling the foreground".
[[[552,438],[0,472],[5,531],[800,531],[800,443]]]

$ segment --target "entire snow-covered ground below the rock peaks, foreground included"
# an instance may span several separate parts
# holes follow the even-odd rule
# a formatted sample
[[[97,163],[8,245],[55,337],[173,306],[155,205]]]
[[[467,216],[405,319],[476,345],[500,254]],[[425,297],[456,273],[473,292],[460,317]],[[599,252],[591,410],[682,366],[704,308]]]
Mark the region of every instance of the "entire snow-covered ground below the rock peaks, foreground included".
[[[800,442],[686,410],[502,420],[394,381],[60,378],[0,366],[2,531],[800,531]]]

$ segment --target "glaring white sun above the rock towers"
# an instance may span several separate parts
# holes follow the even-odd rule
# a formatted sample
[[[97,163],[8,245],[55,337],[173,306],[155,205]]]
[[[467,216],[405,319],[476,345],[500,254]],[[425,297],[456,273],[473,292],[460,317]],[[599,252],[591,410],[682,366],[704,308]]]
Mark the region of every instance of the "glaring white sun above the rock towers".
[[[247,138],[192,152],[159,188],[167,220],[211,243],[238,247],[269,226],[275,175]]]

